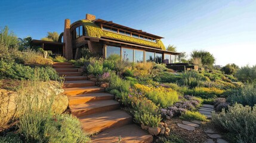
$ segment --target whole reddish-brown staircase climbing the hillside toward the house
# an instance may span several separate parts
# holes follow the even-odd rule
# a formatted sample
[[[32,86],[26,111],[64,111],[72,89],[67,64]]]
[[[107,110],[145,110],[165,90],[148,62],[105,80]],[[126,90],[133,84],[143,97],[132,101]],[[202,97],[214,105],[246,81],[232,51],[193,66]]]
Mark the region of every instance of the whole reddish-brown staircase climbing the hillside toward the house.
[[[119,136],[121,142],[153,142],[152,135],[132,124],[132,117],[120,110],[113,95],[87,80],[72,63],[54,63],[53,67],[64,76],[70,111],[92,135],[92,142],[118,142]]]

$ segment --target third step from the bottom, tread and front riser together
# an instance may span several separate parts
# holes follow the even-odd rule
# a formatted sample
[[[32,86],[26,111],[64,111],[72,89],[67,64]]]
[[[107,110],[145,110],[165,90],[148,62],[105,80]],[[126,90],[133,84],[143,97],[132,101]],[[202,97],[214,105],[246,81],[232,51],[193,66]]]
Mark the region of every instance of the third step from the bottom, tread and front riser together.
[[[69,106],[70,111],[76,117],[87,116],[90,114],[102,113],[120,108],[120,104],[114,100],[104,100],[87,102],[85,104],[76,104]]]

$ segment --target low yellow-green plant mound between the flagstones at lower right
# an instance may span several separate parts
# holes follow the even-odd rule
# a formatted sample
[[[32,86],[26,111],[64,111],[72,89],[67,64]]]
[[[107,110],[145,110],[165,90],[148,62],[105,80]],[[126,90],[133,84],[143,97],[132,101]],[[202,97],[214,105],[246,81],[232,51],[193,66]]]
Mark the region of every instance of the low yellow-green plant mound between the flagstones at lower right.
[[[181,114],[181,119],[183,120],[199,120],[199,121],[207,121],[207,117],[199,113],[198,111],[186,111]]]

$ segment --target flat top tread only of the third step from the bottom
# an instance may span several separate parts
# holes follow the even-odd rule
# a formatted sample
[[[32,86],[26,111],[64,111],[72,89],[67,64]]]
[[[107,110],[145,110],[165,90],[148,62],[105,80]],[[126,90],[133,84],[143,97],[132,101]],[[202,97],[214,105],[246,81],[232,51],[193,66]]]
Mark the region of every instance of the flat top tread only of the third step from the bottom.
[[[84,104],[70,105],[69,108],[71,112],[74,112],[79,110],[91,110],[94,108],[106,107],[108,105],[116,105],[116,104],[119,104],[119,102],[115,100],[103,100],[103,101],[87,102]]]

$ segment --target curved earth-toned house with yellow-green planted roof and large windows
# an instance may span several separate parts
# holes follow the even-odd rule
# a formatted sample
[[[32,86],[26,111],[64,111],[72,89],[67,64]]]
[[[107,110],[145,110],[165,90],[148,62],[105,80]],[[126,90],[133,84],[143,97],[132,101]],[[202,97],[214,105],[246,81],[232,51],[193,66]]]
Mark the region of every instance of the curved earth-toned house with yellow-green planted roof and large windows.
[[[179,54],[166,51],[161,36],[96,19],[91,14],[72,24],[66,19],[59,39],[64,43],[63,55],[68,60],[81,58],[84,49],[104,58],[118,54],[123,60],[138,63],[173,63]]]

